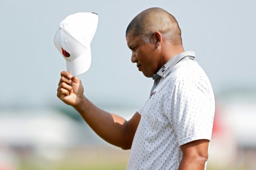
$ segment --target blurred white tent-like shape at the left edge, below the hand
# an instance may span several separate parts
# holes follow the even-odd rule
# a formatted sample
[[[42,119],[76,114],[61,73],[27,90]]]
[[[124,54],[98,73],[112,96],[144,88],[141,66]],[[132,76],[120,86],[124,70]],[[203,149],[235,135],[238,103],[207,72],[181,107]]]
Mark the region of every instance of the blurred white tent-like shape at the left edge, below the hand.
[[[56,110],[0,111],[0,146],[30,150],[49,159],[58,159],[66,148],[77,145],[81,124]]]

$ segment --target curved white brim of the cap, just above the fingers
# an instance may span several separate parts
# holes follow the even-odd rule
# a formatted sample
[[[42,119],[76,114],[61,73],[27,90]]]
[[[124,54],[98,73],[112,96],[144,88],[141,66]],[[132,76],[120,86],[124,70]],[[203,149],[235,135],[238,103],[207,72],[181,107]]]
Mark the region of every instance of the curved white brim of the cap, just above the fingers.
[[[72,61],[66,61],[67,72],[72,77],[85,73],[91,65],[91,49],[90,46],[82,53],[81,56],[77,57]]]

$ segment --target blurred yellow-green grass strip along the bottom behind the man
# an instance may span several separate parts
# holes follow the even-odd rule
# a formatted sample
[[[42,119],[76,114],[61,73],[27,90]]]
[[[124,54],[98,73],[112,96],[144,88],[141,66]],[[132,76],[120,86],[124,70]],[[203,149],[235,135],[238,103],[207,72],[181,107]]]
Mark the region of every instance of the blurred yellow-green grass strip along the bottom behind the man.
[[[58,159],[45,159],[38,155],[19,155],[19,170],[125,170],[130,150],[116,147],[90,147],[70,149]],[[208,161],[207,170],[255,170],[246,165],[219,168]]]

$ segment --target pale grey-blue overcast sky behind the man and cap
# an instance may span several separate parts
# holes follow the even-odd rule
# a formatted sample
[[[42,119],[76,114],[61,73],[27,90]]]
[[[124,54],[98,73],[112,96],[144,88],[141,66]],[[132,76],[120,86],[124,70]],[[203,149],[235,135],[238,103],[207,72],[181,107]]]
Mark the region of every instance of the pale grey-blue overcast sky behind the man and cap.
[[[59,23],[76,12],[95,12],[90,69],[79,76],[98,106],[139,107],[153,85],[131,63],[129,22],[149,7],[176,17],[185,50],[207,73],[215,94],[256,85],[255,1],[0,0],[1,107],[63,105],[57,98],[65,60],[54,46]]]

